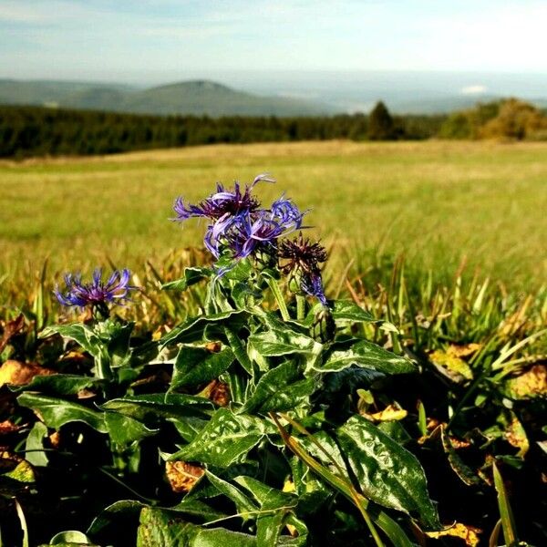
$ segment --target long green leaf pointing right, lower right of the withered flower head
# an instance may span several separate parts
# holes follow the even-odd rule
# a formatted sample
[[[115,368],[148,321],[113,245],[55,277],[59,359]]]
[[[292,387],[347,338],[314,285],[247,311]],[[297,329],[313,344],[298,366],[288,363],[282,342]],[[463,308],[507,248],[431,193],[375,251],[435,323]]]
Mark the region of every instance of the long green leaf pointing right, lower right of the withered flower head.
[[[349,349],[334,349],[328,354],[323,366],[315,370],[337,372],[352,365],[372,368],[385,374],[408,374],[418,369],[407,357],[396,356],[377,344],[361,340]]]

